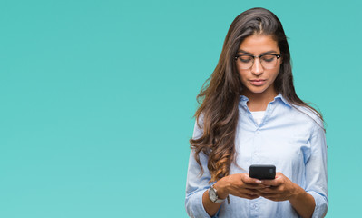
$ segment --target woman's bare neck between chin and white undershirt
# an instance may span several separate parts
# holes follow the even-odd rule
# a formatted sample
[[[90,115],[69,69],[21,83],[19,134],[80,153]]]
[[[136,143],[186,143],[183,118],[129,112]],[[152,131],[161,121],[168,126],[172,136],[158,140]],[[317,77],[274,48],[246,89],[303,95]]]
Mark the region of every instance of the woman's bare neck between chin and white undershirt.
[[[264,93],[251,93],[249,90],[243,92],[249,98],[248,107],[250,111],[265,111],[269,102],[272,102],[277,96],[277,92],[273,89]]]

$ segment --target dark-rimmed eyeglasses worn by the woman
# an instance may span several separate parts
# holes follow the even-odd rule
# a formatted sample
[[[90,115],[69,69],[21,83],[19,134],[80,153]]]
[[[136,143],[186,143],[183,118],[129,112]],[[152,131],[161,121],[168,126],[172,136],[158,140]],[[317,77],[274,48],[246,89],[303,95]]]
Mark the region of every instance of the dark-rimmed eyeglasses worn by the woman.
[[[250,54],[241,54],[235,56],[235,61],[239,61],[240,69],[248,70],[254,64],[255,58],[259,57],[260,64],[264,69],[274,69],[277,66],[280,54],[261,54],[254,56]]]

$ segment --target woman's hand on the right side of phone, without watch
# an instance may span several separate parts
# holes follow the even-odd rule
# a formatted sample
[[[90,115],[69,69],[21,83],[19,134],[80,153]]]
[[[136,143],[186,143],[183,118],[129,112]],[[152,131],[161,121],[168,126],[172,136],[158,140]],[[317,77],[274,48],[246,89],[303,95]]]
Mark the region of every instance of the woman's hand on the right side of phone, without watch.
[[[275,202],[290,200],[296,196],[298,190],[298,185],[292,183],[283,173],[277,173],[274,180],[263,180],[261,183],[266,188],[260,190],[259,195]]]

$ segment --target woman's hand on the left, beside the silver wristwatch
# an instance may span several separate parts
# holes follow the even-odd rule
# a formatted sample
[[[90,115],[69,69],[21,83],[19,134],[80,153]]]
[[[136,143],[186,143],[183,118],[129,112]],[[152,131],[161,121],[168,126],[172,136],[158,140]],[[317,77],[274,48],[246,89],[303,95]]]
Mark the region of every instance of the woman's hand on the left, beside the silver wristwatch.
[[[248,173],[231,174],[223,177],[214,184],[220,199],[226,198],[229,194],[246,198],[259,198],[260,190],[265,189],[265,185],[261,184],[258,179],[249,177]]]

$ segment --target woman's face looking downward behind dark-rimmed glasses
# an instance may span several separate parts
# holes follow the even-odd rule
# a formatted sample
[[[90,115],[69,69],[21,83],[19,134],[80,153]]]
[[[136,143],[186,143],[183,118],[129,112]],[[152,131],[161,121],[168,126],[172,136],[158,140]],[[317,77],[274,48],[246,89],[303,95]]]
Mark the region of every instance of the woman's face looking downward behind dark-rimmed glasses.
[[[250,35],[239,46],[237,55],[244,54],[254,56],[280,54],[280,50],[277,41],[271,35]],[[277,63],[271,69],[270,66],[267,67],[268,69],[262,66],[261,62],[264,65],[268,64],[268,59],[262,59],[263,57],[255,58],[254,64],[249,69],[242,69],[245,68],[242,66],[243,63],[240,59],[236,60],[236,68],[243,85],[243,94],[276,94],[274,81],[279,74],[281,58],[277,59]]]

